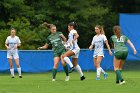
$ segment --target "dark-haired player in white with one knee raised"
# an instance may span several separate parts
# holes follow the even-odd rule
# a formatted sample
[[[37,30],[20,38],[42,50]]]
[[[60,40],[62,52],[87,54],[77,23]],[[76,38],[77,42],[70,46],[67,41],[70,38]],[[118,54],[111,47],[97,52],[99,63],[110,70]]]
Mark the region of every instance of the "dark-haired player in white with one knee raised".
[[[81,67],[78,65],[78,56],[80,53],[80,48],[77,44],[77,39],[79,37],[77,31],[75,30],[76,28],[76,23],[75,22],[71,22],[68,24],[68,31],[69,31],[69,35],[68,35],[68,41],[73,44],[73,47],[71,47],[71,49],[69,49],[65,54],[63,54],[62,58],[64,59],[64,61],[68,64],[71,63],[70,59],[68,57],[72,57],[72,63],[73,63],[73,68],[70,69],[70,72],[73,71],[74,69],[76,69],[79,73],[80,73],[80,79],[84,80],[84,74],[81,70]],[[72,67],[72,66],[71,66]]]

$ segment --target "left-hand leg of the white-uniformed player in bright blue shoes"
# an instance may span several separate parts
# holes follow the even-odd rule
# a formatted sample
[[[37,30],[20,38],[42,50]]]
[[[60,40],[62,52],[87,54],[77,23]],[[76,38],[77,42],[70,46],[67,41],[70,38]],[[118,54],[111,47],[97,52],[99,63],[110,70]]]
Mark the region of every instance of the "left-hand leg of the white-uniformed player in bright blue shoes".
[[[97,59],[95,61],[96,68],[97,68],[97,77],[96,80],[100,80],[100,73],[101,73],[101,68],[100,68],[100,63],[102,61],[102,56],[97,56]]]

